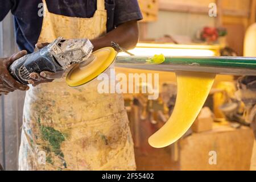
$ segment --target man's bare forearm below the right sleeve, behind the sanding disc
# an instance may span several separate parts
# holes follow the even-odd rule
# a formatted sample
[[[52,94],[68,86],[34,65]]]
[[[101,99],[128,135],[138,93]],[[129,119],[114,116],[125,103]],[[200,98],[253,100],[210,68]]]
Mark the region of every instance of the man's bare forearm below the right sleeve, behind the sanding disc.
[[[111,42],[118,43],[125,49],[134,48],[138,42],[139,31],[137,21],[126,22],[110,31],[108,34],[91,40],[94,51],[103,47],[111,47]]]

